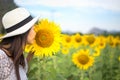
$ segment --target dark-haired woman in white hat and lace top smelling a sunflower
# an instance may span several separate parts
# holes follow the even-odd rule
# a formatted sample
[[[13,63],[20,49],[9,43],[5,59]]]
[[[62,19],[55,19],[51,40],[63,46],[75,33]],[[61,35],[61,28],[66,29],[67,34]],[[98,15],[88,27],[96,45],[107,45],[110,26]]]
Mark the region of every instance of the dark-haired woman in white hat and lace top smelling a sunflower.
[[[34,24],[38,18],[32,18],[25,8],[16,8],[3,16],[6,35],[0,37],[0,80],[27,80],[27,61],[34,52],[27,59],[23,52],[25,45],[34,41]]]

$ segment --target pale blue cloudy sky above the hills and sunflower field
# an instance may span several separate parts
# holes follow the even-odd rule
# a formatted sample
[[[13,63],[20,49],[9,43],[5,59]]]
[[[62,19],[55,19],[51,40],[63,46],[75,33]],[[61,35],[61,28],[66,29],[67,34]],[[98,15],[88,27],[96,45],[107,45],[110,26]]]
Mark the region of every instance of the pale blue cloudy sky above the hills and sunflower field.
[[[120,0],[14,0],[35,17],[59,24],[63,32],[87,33],[97,27],[120,31]]]

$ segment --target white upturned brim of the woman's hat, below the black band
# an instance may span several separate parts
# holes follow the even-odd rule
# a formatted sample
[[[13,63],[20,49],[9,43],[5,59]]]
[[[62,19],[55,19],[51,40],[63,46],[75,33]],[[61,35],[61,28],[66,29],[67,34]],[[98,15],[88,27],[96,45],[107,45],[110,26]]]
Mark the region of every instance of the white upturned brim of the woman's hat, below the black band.
[[[30,22],[28,22],[24,26],[20,27],[19,29],[16,29],[10,33],[7,33],[4,36],[1,36],[0,39],[16,36],[16,35],[27,32],[37,22],[38,19],[39,19],[39,16],[33,18]]]

